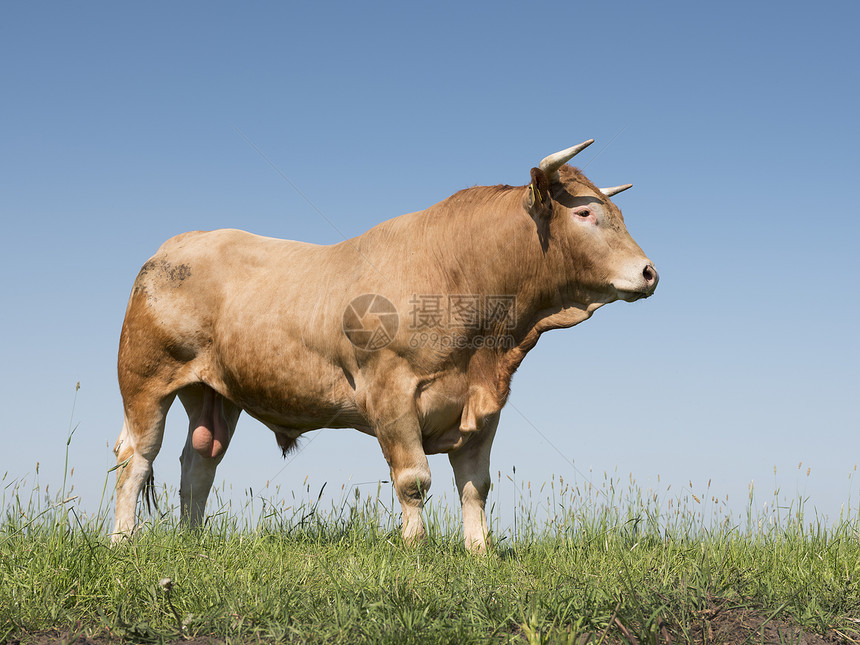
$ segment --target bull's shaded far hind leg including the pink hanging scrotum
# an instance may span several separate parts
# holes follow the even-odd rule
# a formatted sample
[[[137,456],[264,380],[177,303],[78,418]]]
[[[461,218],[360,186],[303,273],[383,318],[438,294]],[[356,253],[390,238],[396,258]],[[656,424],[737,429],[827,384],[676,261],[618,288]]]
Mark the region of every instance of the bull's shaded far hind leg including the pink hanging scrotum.
[[[200,526],[215,470],[236,430],[240,410],[205,384],[180,391],[179,400],[188,413],[188,439],[179,457],[182,521]]]

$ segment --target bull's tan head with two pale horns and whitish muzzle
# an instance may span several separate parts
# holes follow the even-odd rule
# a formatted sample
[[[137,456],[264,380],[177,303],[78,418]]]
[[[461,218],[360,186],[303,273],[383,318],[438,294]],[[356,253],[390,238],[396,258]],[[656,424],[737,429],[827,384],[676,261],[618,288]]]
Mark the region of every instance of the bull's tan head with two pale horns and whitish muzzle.
[[[580,304],[647,298],[657,287],[654,264],[630,237],[610,197],[632,184],[597,188],[567,162],[593,139],[546,157],[531,170],[526,207],[545,253],[563,272],[565,300]]]

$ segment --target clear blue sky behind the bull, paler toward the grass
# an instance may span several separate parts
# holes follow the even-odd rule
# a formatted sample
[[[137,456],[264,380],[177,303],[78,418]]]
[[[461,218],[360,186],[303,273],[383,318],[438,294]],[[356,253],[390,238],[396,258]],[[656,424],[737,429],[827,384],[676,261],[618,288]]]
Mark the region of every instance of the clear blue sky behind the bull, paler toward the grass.
[[[576,163],[635,184],[615,201],[660,286],[541,339],[493,472],[711,481],[740,510],[754,481],[856,513],[858,23],[847,1],[3,4],[2,485],[37,462],[62,484],[80,381],[70,465],[98,506],[129,290],[168,237],[339,242],[595,138]],[[169,486],[185,423],[174,409],[155,463]],[[387,478],[372,438],[310,437],[284,469],[245,418],[216,482]]]

